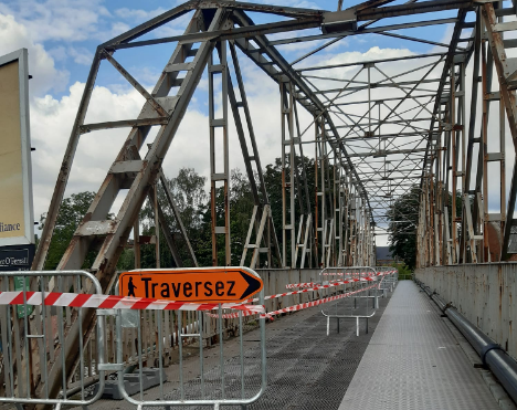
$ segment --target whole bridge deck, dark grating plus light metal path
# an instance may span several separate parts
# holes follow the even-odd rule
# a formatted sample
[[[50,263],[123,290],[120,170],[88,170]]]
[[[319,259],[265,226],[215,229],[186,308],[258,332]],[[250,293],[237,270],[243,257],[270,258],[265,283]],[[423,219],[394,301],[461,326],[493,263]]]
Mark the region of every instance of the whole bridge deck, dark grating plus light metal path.
[[[338,334],[333,320],[330,336],[326,336],[326,320],[317,307],[268,324],[268,386],[247,409],[499,409],[437,308],[412,282],[400,282],[390,298],[380,299],[369,329],[365,334],[361,322],[357,337],[355,320],[345,319]],[[260,385],[258,362],[251,359],[258,356],[257,338],[257,330],[244,336],[246,381],[252,387]],[[226,395],[239,397],[238,339],[226,340],[224,349]],[[218,353],[219,348],[212,348],[203,355],[205,390],[213,398],[220,396]],[[198,358],[186,357],[184,365],[186,398],[199,398]],[[166,371],[165,397],[177,399],[179,392],[171,381],[178,378],[178,366]],[[157,399],[159,389],[147,390],[144,397]],[[91,408],[135,407],[101,400]]]

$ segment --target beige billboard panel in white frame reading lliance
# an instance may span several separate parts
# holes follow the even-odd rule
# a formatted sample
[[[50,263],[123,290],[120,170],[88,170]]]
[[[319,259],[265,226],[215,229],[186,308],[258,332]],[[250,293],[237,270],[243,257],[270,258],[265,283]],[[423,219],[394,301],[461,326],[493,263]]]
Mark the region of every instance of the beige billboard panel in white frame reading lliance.
[[[0,246],[34,243],[27,49],[0,56]]]

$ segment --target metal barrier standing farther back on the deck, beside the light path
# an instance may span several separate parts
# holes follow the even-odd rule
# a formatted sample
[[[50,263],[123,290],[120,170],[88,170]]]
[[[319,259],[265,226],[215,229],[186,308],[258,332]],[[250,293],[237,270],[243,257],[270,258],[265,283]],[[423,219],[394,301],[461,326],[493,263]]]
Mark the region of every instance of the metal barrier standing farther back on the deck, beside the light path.
[[[321,309],[321,314],[327,318],[327,336],[330,335],[330,319],[335,318],[337,322],[337,332],[339,333],[339,320],[344,318],[356,318],[356,335],[359,336],[359,319],[363,318],[366,319],[366,333],[368,333],[368,319],[372,317],[378,307],[379,307],[379,301],[378,297],[379,295],[376,294],[371,295],[370,291],[376,291],[376,287],[373,284],[378,284],[378,281],[380,281],[380,276],[378,276],[378,272],[376,269],[371,266],[344,266],[344,267],[327,267],[324,269],[320,272],[320,275],[327,276],[327,277],[333,277],[334,281],[338,281],[342,278],[346,281],[347,278],[358,278],[358,280],[363,280],[360,282],[356,282],[355,287],[352,288],[352,292],[356,291],[357,293],[354,293],[350,296],[347,296],[342,298],[341,301],[337,301],[334,304],[334,313],[330,313],[329,311],[324,311]],[[365,281],[368,278],[368,281]],[[324,282],[325,283],[325,282]],[[365,295],[365,292],[368,294]],[[354,298],[354,304],[351,303],[351,298]],[[366,303],[363,304],[366,311],[362,314],[355,313],[354,311],[357,311],[357,299],[359,301],[365,299]],[[373,299],[373,303],[371,304],[370,308],[370,299]],[[331,307],[330,307],[331,309]],[[349,314],[347,314],[347,312]]]

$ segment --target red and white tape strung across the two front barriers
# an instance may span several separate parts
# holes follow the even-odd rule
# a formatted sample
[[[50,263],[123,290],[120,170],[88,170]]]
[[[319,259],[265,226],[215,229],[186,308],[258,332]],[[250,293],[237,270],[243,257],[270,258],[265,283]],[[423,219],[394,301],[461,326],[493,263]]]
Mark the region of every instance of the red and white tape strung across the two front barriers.
[[[28,305],[41,305],[43,303],[42,292],[25,292]],[[45,292],[44,303],[46,306],[68,307],[97,307],[115,309],[152,309],[152,311],[213,311],[219,308],[217,303],[186,303],[146,297],[91,295],[77,293]],[[23,292],[0,292],[0,305],[23,305]],[[242,305],[235,303],[222,303],[223,309],[239,309],[253,314],[264,312],[262,305]]]

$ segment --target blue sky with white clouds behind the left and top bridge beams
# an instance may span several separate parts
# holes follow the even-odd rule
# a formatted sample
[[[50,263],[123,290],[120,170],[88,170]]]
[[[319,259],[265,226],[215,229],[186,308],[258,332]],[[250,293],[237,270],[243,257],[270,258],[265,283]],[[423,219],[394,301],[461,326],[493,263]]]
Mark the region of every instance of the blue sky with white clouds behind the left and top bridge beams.
[[[256,1],[273,3],[273,1]],[[344,7],[359,1],[345,0]],[[395,3],[399,3],[397,1]],[[98,44],[154,18],[180,1],[136,0],[2,0],[0,2],[0,55],[20,48],[29,50],[30,116],[34,190],[34,219],[46,212],[54,189],[89,65]],[[276,1],[282,6],[335,10],[336,1]],[[443,12],[432,18],[454,17]],[[186,14],[146,35],[146,39],[179,35],[191,18]],[[270,14],[252,13],[256,23],[275,21]],[[400,19],[399,21],[404,21]],[[390,21],[389,23],[394,22]],[[387,22],[383,22],[386,24]],[[307,35],[319,30],[274,34],[270,39]],[[452,27],[415,29],[413,35],[447,42]],[[305,42],[278,46],[287,61],[323,42]],[[152,90],[175,44],[146,50],[124,50],[115,57],[147,90]],[[393,38],[369,34],[346,38],[315,56],[295,65],[310,66],[325,62],[354,62],[363,59],[409,55],[431,52],[433,45],[416,44]],[[444,51],[442,49],[441,51]],[[263,166],[272,164],[281,153],[281,116],[277,85],[245,56],[240,55]],[[102,63],[85,123],[130,119],[138,115],[144,99],[109,63]],[[300,122],[310,124],[310,116],[300,113]],[[65,197],[71,193],[97,191],[113,164],[127,129],[96,132],[81,137]],[[152,138],[149,138],[151,141]],[[310,156],[310,153],[308,153]],[[181,126],[163,162],[171,178],[181,167],[192,167],[209,176],[208,78],[203,75]],[[234,128],[230,128],[230,168],[244,169]],[[115,202],[120,204],[120,199]],[[38,232],[38,230],[36,230]],[[386,242],[379,238],[378,244]]]

